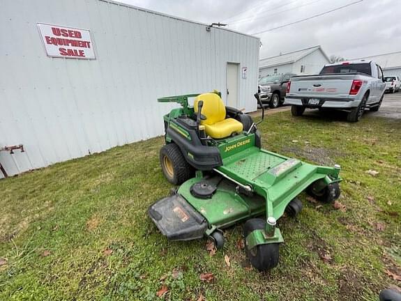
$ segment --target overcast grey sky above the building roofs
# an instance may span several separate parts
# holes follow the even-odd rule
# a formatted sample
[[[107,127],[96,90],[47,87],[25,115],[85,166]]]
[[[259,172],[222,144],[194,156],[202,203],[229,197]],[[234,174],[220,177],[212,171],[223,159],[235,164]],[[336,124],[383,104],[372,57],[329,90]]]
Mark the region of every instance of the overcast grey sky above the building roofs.
[[[120,0],[160,13],[257,33],[333,10],[358,0]],[[312,20],[261,33],[260,56],[321,45],[354,59],[401,50],[401,0],[363,0]]]

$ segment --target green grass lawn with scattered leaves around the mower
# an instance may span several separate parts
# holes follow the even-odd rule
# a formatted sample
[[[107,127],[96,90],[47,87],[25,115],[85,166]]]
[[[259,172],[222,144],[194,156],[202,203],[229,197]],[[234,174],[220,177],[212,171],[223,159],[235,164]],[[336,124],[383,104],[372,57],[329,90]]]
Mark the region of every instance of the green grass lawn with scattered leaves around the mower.
[[[214,256],[157,231],[146,209],[172,187],[158,137],[0,180],[0,300],[160,300],[163,285],[165,300],[378,300],[400,285],[401,122],[286,111],[259,129],[264,148],[340,164],[344,178],[342,206],[301,194],[301,214],[279,220],[278,268],[250,268],[241,225]]]

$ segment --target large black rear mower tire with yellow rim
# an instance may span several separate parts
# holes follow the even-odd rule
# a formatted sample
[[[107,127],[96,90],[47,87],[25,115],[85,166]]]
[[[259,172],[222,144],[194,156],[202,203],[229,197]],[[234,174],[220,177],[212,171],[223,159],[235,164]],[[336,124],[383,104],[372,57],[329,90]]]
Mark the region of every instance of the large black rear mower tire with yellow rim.
[[[160,149],[160,166],[165,178],[174,185],[180,185],[194,176],[194,169],[174,143]]]

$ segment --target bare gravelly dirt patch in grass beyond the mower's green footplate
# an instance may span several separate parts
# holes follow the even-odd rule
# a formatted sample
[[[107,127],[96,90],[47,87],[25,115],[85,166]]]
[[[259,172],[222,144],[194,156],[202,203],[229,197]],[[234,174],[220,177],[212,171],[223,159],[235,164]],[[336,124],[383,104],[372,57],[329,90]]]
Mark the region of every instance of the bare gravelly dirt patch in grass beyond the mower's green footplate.
[[[307,145],[303,148],[296,146],[286,146],[282,148],[286,153],[293,153],[296,157],[305,157],[316,164],[333,166],[335,164],[334,157],[342,157],[345,154],[327,148],[317,148]]]

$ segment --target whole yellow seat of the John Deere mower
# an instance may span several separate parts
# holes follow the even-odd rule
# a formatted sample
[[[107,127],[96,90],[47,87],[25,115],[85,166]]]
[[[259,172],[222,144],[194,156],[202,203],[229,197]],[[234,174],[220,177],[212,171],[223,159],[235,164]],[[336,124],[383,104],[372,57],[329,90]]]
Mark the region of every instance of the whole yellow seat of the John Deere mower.
[[[234,118],[225,118],[225,105],[219,95],[215,93],[200,94],[195,98],[194,110],[197,113],[198,102],[203,101],[202,115],[206,117],[201,121],[208,136],[215,139],[222,139],[231,136],[233,133],[242,132],[243,125]]]

